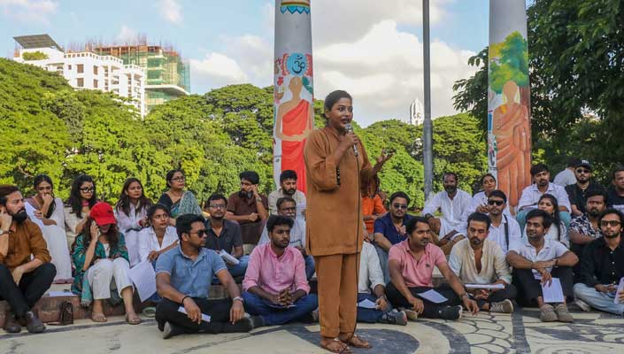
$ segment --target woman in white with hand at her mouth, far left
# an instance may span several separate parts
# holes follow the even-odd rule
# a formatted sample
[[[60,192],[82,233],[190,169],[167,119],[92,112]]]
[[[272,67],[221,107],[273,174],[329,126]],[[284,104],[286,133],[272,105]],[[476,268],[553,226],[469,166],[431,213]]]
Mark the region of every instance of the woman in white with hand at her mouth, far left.
[[[65,237],[63,202],[54,196],[52,179],[46,174],[35,176],[35,196],[26,200],[28,217],[41,228],[48,244],[52,264],[57,267],[56,283],[72,281],[72,261]]]

